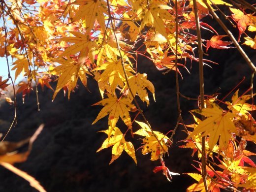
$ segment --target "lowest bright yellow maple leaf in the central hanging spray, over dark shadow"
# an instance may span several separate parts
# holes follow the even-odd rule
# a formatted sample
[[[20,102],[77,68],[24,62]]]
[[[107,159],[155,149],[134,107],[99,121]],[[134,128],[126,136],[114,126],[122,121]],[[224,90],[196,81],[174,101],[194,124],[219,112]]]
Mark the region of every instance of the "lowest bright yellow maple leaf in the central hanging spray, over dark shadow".
[[[121,130],[117,127],[111,128],[107,130],[102,130],[99,132],[106,133],[109,137],[103,142],[101,147],[97,150],[97,152],[102,149],[113,146],[112,148],[112,158],[109,162],[111,164],[114,160],[118,159],[122,152],[125,150],[126,153],[134,160],[137,164],[135,149],[131,142],[127,142],[125,140],[125,135],[121,132]]]

